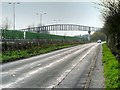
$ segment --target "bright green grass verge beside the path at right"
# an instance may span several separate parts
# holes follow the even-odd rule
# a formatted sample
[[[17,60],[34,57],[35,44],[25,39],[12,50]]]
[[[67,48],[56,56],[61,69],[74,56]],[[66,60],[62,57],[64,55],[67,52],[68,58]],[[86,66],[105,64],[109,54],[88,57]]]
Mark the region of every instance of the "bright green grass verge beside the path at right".
[[[120,88],[120,64],[106,44],[103,44],[103,64],[106,88]]]

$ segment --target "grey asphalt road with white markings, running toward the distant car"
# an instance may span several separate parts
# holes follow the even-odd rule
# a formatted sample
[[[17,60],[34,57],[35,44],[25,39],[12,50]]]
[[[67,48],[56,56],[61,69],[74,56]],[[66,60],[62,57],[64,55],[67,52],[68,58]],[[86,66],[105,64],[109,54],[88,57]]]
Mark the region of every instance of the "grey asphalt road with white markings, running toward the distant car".
[[[84,88],[101,44],[89,43],[0,65],[2,88]]]

